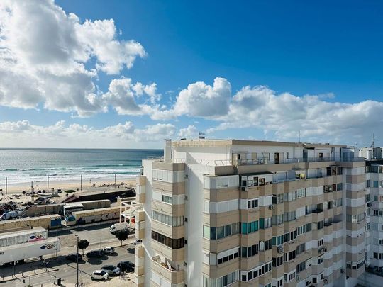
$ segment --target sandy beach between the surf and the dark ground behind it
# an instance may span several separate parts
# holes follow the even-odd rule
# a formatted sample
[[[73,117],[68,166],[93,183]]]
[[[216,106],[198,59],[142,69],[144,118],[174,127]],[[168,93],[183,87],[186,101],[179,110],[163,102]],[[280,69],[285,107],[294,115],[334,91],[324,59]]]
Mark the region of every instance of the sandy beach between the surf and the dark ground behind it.
[[[123,183],[123,185],[121,185]],[[108,186],[109,184],[109,186]],[[113,186],[114,179],[111,181],[111,178],[107,179],[95,179],[89,181],[82,181],[82,189],[81,189],[81,182],[80,181],[50,181],[49,182],[49,191],[47,191],[48,183],[47,181],[38,181],[33,182],[33,190],[35,192],[37,191],[43,191],[45,190],[45,193],[51,193],[52,188],[55,190],[61,189],[62,193],[59,193],[60,198],[63,198],[67,195],[64,191],[67,191],[69,189],[72,189],[76,192],[91,192],[91,191],[106,191],[106,190],[113,190],[116,188],[126,188],[126,187],[135,187],[135,178],[132,177],[121,177],[116,180],[116,187]],[[95,186],[92,186],[95,185]],[[20,183],[20,184],[9,184],[7,188],[7,195],[5,195],[5,186],[1,186],[0,189],[2,189],[0,194],[0,204],[6,202],[5,196],[9,198],[11,201],[15,201],[17,203],[24,203],[26,201],[30,201],[30,196],[21,196],[20,198],[16,199],[13,198],[14,195],[18,194],[21,195],[23,191],[26,191],[27,193],[30,192],[31,186],[30,183]],[[43,193],[42,193],[43,194]],[[72,194],[72,193],[70,193]],[[2,198],[2,199],[1,199]],[[60,198],[52,198],[52,200],[60,200]]]

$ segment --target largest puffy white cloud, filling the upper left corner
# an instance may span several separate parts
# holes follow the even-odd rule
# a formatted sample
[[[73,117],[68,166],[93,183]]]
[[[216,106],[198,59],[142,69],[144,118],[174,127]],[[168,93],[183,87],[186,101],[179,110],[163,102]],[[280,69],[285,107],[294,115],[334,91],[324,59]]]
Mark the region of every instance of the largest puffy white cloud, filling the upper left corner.
[[[2,106],[37,108],[43,103],[77,116],[106,111],[94,84],[99,71],[118,74],[145,55],[135,40],[116,39],[113,19],[81,23],[52,0],[0,2]],[[157,96],[155,86],[143,89]]]

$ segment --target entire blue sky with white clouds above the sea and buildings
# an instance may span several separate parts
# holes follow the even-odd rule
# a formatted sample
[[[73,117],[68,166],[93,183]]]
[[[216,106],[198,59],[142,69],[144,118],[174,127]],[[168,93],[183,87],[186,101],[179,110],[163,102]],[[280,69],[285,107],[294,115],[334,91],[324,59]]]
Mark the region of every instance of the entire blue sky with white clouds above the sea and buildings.
[[[0,1],[0,147],[383,141],[382,1]]]

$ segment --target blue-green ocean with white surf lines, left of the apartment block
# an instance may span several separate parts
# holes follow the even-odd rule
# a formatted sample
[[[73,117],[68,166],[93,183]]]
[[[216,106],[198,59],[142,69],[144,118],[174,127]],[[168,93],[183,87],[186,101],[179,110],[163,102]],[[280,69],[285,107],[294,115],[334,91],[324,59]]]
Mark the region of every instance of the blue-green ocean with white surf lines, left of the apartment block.
[[[0,149],[0,182],[71,181],[134,177],[141,160],[161,157],[162,150]]]

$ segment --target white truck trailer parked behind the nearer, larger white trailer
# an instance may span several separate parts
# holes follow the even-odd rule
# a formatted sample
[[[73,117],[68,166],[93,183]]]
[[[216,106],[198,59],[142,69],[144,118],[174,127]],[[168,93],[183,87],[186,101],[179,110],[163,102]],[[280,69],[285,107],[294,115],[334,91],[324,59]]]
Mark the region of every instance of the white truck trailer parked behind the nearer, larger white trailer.
[[[43,227],[29,228],[18,232],[0,233],[0,247],[6,247],[14,244],[23,244],[46,240],[48,231]]]

